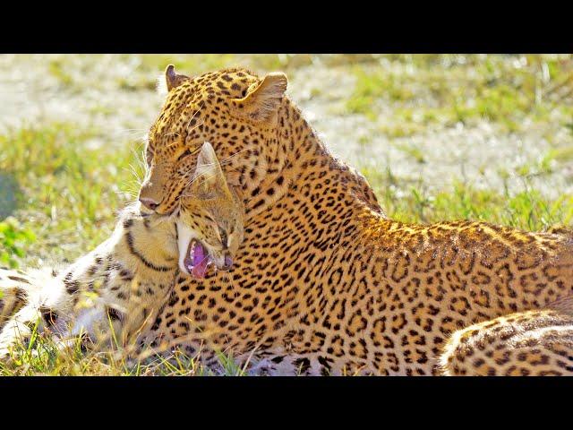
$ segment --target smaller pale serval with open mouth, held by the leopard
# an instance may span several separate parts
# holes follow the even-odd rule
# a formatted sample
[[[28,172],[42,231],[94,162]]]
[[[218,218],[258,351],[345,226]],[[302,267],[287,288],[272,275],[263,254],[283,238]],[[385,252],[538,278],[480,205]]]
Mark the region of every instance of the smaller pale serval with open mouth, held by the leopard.
[[[174,216],[142,211],[137,202],[120,211],[106,241],[68,268],[0,271],[0,356],[30,338],[34,327],[61,346],[80,337],[91,350],[109,349],[115,341],[139,351],[141,332],[166,304],[180,273],[200,279],[232,265],[242,241],[242,211],[205,142]]]

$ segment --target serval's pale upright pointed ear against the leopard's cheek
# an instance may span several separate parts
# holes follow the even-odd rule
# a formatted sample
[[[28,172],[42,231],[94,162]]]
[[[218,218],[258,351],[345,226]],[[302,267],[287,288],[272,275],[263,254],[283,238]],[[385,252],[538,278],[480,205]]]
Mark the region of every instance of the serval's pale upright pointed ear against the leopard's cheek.
[[[192,192],[197,197],[214,192],[229,193],[225,174],[210,142],[203,143],[199,152],[197,168],[192,177]]]

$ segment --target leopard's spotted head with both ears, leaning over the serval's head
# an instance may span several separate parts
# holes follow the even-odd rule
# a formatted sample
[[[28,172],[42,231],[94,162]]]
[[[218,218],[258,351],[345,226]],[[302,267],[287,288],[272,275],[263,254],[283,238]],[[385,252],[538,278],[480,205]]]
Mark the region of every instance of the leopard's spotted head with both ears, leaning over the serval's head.
[[[146,146],[148,172],[140,191],[145,206],[161,215],[175,211],[203,142],[213,145],[228,184],[244,192],[245,202],[269,180],[269,172],[279,175],[286,159],[279,144],[284,128],[279,111],[288,103],[285,74],[261,79],[244,69],[226,69],[187,77],[169,65],[166,82],[167,99]]]

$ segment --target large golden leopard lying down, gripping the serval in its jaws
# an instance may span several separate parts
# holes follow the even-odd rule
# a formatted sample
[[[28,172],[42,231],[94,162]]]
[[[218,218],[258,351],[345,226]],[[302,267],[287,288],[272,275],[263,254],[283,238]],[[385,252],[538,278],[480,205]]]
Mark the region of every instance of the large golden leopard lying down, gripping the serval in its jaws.
[[[447,364],[462,347],[464,331],[487,331],[510,314],[535,325],[573,293],[569,228],[390,219],[366,178],[329,151],[287,96],[285,73],[187,76],[169,64],[165,82],[140,201],[170,216],[195,150],[211,142],[243,196],[244,240],[227,279],[177,279],[148,332],[153,342],[201,350],[207,366],[226,351],[266,374],[451,374],[442,357]],[[567,355],[550,360],[554,374],[571,374],[563,345]]]

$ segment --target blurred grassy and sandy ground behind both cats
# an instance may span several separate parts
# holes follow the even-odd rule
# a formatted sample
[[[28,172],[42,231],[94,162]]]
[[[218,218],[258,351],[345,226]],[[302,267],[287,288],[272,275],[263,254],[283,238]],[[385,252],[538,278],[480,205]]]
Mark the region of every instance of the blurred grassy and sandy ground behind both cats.
[[[71,261],[110,234],[137,193],[169,63],[286,72],[289,96],[390,217],[529,230],[573,219],[571,55],[3,55],[0,264]]]

